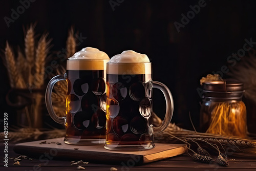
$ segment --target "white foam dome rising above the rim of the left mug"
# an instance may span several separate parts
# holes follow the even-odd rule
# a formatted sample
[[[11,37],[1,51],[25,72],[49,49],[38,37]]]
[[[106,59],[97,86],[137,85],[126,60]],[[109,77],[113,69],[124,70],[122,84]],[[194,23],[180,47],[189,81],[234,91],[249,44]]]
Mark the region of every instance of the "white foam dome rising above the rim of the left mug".
[[[76,52],[69,59],[109,59],[109,56],[97,48],[87,47]]]

